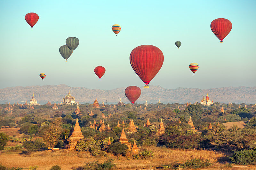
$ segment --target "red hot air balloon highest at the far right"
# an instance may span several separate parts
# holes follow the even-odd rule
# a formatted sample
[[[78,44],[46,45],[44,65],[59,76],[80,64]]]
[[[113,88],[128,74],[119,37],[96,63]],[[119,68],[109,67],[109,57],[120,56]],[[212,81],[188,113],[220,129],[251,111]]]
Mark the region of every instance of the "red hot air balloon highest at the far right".
[[[232,29],[232,23],[225,18],[214,19],[211,23],[212,32],[220,39],[220,42]]]

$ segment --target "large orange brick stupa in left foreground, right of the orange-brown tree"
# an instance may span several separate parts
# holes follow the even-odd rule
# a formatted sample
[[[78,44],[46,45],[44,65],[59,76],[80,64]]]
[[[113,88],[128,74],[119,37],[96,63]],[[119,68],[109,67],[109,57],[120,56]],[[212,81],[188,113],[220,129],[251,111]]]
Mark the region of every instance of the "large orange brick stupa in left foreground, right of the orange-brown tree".
[[[74,127],[74,131],[72,134],[68,137],[68,139],[64,142],[64,148],[67,150],[75,150],[77,142],[84,138],[84,135],[81,132],[78,119],[76,118],[76,124]]]

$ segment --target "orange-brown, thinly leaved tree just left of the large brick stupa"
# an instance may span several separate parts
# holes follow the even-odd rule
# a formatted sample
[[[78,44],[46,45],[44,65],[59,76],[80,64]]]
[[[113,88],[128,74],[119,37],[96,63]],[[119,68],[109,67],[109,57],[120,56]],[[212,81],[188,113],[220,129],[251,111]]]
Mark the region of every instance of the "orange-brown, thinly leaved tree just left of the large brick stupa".
[[[56,118],[46,127],[43,132],[43,139],[48,146],[54,147],[58,143],[61,129],[61,118]]]

